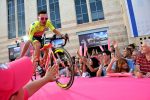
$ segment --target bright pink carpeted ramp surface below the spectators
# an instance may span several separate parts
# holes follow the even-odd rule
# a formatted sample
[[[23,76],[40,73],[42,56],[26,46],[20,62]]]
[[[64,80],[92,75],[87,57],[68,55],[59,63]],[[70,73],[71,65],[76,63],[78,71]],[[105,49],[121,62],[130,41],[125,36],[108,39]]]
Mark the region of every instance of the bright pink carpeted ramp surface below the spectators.
[[[150,78],[75,78],[69,90],[48,83],[29,100],[150,100]]]

